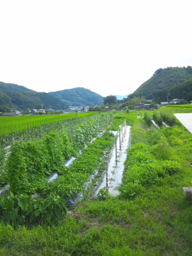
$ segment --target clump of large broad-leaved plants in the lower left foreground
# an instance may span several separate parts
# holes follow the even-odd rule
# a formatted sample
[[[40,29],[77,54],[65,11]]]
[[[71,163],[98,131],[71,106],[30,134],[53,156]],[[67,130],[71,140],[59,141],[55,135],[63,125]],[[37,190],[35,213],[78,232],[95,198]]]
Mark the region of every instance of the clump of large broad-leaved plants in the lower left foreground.
[[[55,222],[61,214],[66,216],[66,201],[58,195],[51,194],[48,198],[32,198],[31,196],[0,196],[0,215],[5,220],[18,222],[43,221]]]

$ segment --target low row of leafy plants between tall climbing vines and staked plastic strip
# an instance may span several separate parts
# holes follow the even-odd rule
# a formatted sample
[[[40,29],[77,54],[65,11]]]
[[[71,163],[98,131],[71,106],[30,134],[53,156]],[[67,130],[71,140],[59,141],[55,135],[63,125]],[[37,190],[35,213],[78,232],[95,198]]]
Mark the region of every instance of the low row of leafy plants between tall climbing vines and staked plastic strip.
[[[69,168],[62,169],[62,176],[48,182],[40,190],[43,196],[55,192],[62,197],[74,198],[80,192],[85,192],[86,183],[90,174],[94,174],[98,167],[103,164],[104,151],[110,150],[114,145],[114,134],[104,132],[91,144],[82,150],[82,154]]]

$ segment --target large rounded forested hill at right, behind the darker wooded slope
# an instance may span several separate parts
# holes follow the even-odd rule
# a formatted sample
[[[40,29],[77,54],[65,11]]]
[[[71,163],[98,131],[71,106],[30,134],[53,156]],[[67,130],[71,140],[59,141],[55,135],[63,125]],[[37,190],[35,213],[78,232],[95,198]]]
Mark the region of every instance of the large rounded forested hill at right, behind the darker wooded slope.
[[[144,82],[134,93],[140,93],[148,100],[159,97],[164,101],[167,99],[166,96],[169,95],[168,93],[173,86],[190,79],[192,79],[191,66],[188,66],[187,68],[160,68],[156,70],[152,77]],[[181,98],[181,96],[178,98]]]

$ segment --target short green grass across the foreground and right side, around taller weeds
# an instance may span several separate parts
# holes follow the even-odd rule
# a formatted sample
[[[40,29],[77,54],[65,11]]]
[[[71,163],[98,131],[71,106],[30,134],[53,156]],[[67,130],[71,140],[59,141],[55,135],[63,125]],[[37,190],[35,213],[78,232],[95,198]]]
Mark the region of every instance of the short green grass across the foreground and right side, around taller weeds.
[[[190,186],[192,180],[192,136],[177,125],[149,130],[134,111],[127,118],[133,120],[132,146],[144,143],[152,147],[165,136],[182,171],[128,198],[123,193],[104,201],[90,201],[85,196],[84,201],[68,209],[67,218],[55,225],[26,227],[2,221],[0,255],[192,255],[192,203],[182,195],[182,187]]]

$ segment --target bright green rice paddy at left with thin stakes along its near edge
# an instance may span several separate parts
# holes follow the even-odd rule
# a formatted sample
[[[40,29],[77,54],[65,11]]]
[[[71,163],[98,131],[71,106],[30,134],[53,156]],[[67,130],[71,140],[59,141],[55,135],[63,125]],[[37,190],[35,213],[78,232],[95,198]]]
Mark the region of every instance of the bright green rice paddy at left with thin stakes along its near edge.
[[[0,118],[0,146],[8,147],[14,140],[36,140],[51,130],[64,129],[72,140],[73,128],[91,119],[94,112],[52,116],[19,116]]]

